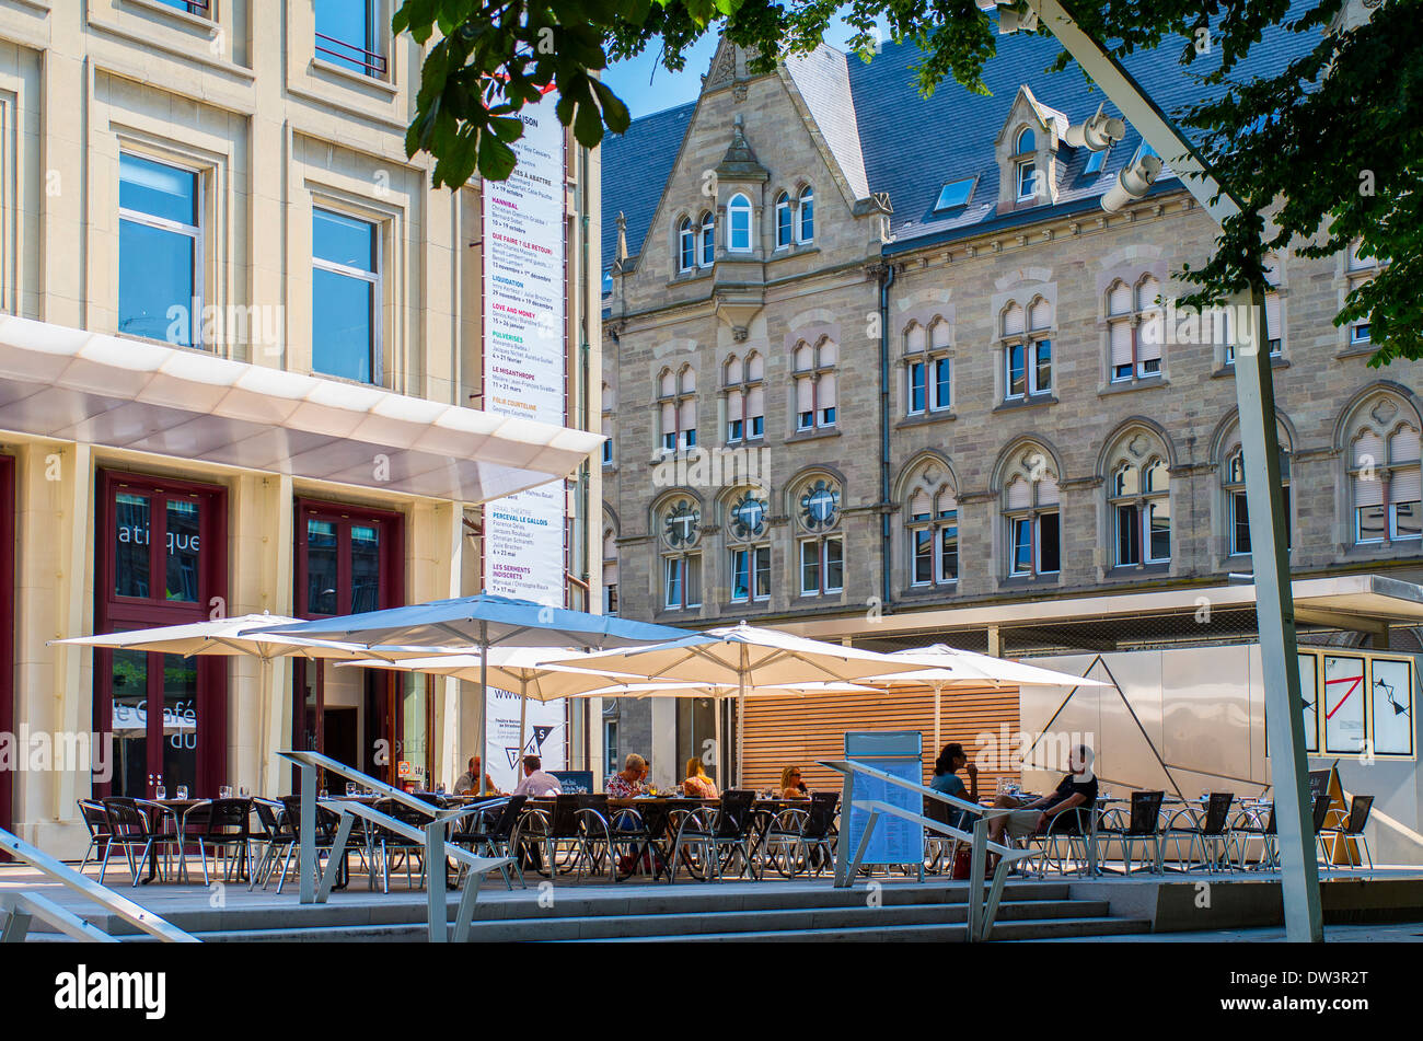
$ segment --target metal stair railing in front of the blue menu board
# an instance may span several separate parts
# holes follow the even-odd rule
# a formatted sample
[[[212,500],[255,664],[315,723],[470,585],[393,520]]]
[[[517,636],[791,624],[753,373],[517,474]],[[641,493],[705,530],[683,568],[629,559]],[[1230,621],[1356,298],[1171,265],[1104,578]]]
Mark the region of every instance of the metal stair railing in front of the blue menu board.
[[[959,799],[953,795],[946,795],[943,792],[935,791],[933,788],[926,788],[925,785],[915,784],[914,781],[905,781],[904,778],[888,774],[875,767],[869,767],[864,762],[855,762],[854,759],[828,759],[820,764],[821,767],[828,767],[844,775],[845,784],[841,794],[841,804],[847,808],[854,806],[869,813],[865,821],[865,831],[859,836],[859,843],[855,848],[852,856],[847,858],[847,845],[840,843],[835,848],[835,887],[847,889],[854,883],[855,876],[859,873],[859,863],[865,856],[865,850],[869,848],[869,838],[879,822],[881,816],[895,816],[901,821],[908,821],[909,823],[916,823],[928,831],[936,832],[938,835],[946,835],[961,842],[969,843],[969,922],[968,922],[968,939],[973,941],[985,941],[993,933],[993,920],[998,917],[998,906],[1003,897],[1003,885],[1007,880],[1007,869],[1013,866],[1017,860],[1025,860],[1035,856],[1033,850],[1027,849],[1013,849],[998,842],[989,842],[988,825],[993,818],[1005,816],[1012,813],[1010,809],[988,809],[976,802],[969,802],[966,799]],[[922,812],[916,813],[904,806],[895,806],[894,804],[884,802],[882,799],[857,799],[855,798],[855,776],[872,778],[896,788],[904,788],[909,792],[916,792],[926,799],[935,799],[938,802],[948,804],[968,813],[972,813],[978,819],[973,822],[973,831],[966,832],[961,828],[933,821],[925,816]],[[922,804],[921,804],[922,805]],[[848,816],[845,818],[848,822]],[[847,823],[848,828],[848,823]],[[998,869],[993,872],[993,882],[989,886],[989,892],[983,895],[983,876],[986,873],[986,858],[988,853],[998,855]]]

